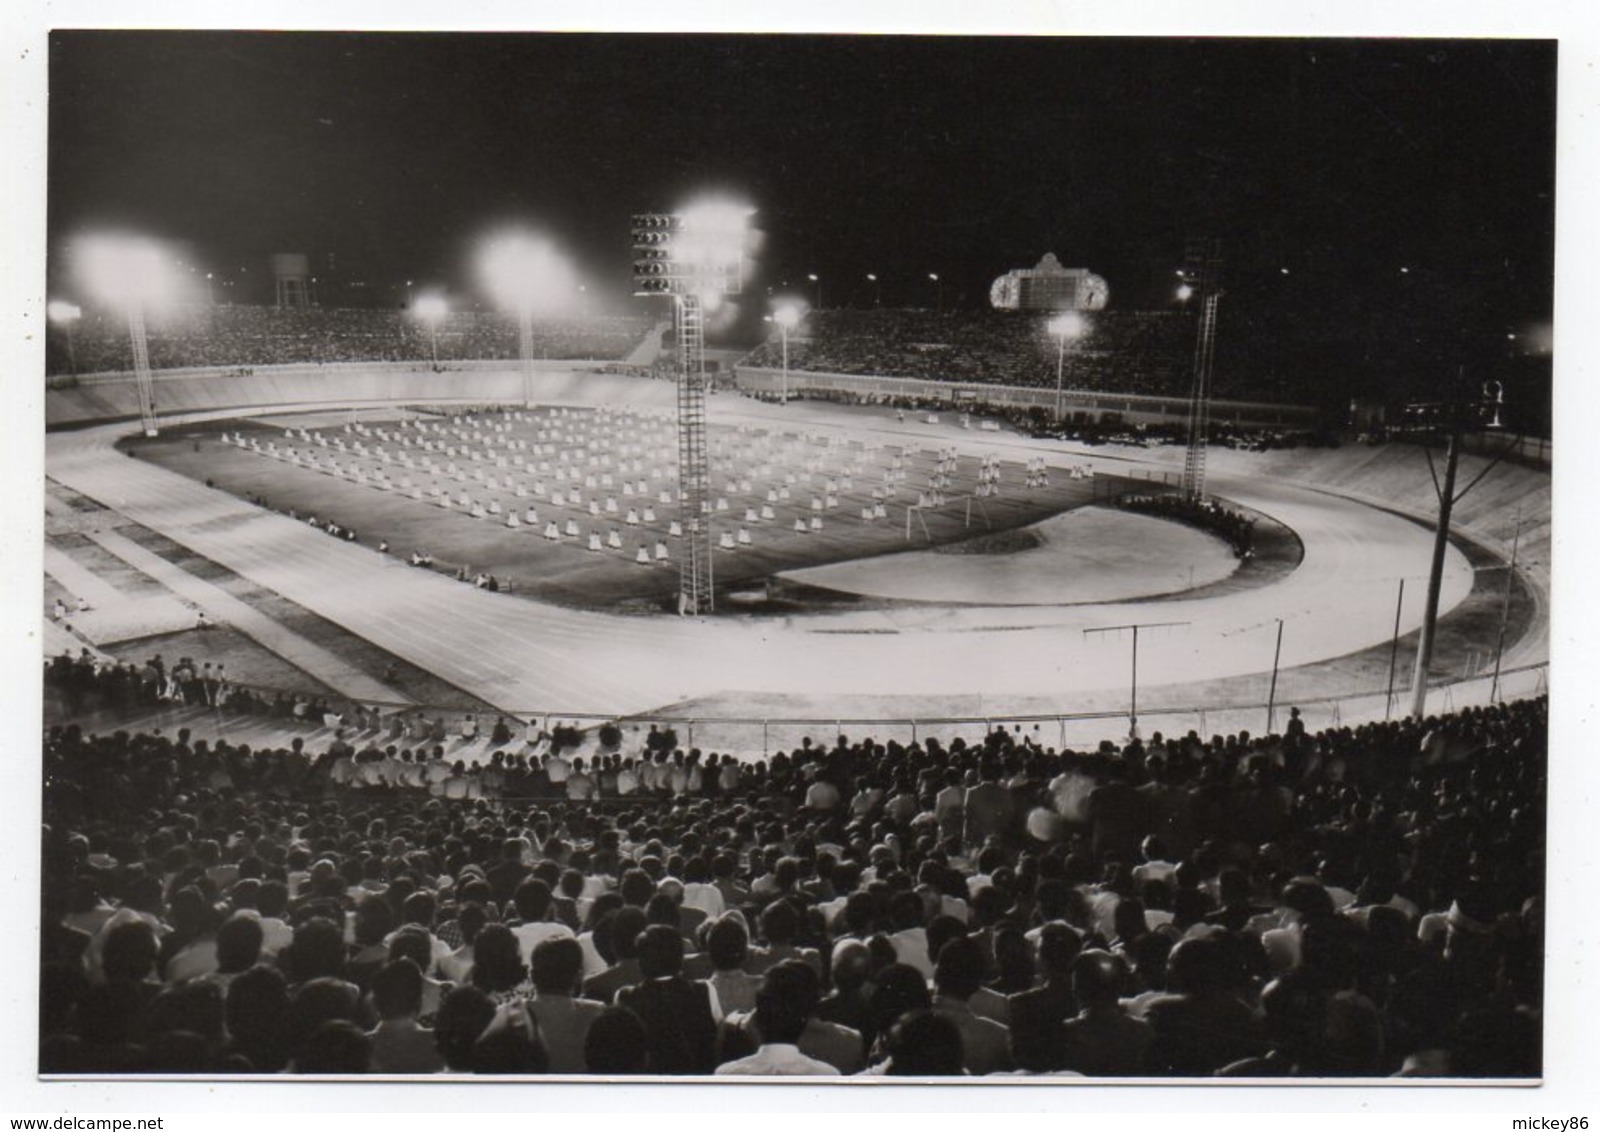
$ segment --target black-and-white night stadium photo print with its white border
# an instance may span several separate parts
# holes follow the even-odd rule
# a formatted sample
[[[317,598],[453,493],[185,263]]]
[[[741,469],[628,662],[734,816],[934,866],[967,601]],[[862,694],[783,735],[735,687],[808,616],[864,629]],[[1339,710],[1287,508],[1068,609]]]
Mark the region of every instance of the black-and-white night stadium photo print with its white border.
[[[32,1082],[1547,1079],[1557,35],[118,22]]]

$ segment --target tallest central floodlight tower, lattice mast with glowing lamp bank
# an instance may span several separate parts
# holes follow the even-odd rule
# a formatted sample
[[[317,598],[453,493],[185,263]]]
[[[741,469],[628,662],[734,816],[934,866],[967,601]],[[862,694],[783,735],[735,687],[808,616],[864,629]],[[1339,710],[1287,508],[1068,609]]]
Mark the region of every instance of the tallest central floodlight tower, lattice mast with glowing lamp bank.
[[[670,296],[678,353],[678,612],[709,614],[712,595],[710,460],[706,441],[706,315],[738,294],[750,211],[707,201],[634,216],[634,294]]]

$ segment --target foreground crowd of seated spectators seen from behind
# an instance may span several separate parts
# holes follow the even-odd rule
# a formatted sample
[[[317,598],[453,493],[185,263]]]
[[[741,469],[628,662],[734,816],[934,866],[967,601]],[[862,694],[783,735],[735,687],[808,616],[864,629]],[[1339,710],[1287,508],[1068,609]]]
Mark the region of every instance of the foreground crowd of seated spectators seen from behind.
[[[651,729],[598,769],[496,735],[480,785],[547,801],[446,790],[430,740],[58,726],[40,1065],[1531,1076],[1546,707],[754,763]]]

